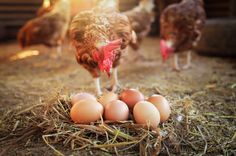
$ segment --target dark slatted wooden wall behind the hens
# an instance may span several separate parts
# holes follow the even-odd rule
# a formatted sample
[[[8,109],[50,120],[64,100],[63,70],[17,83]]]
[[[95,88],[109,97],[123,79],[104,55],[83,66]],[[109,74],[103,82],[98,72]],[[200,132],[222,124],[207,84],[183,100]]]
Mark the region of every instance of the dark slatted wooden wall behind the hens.
[[[0,40],[14,39],[19,28],[36,15],[43,0],[0,0]],[[89,9],[92,0],[71,0],[72,13]],[[181,0],[155,0],[156,21],[151,34],[158,34],[161,11]],[[236,17],[236,0],[204,0],[208,18]],[[138,5],[139,0],[120,0],[120,10],[126,11]],[[90,3],[90,4],[89,4]]]

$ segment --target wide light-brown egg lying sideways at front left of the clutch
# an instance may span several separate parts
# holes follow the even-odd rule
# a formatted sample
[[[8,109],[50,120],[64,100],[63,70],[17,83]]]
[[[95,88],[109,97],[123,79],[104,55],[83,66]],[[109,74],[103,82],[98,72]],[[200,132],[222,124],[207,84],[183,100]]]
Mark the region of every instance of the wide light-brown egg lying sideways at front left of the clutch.
[[[72,106],[70,116],[75,123],[89,124],[99,120],[103,111],[102,104],[92,99],[85,99]]]

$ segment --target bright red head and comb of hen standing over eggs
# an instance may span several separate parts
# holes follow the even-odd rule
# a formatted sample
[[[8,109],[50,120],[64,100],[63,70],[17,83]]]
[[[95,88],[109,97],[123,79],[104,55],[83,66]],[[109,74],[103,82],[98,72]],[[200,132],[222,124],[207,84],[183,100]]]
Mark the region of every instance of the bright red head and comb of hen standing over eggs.
[[[98,67],[102,72],[106,72],[110,76],[113,62],[116,57],[116,50],[120,48],[121,39],[111,42],[96,44],[96,50],[93,51],[93,59],[98,62]]]

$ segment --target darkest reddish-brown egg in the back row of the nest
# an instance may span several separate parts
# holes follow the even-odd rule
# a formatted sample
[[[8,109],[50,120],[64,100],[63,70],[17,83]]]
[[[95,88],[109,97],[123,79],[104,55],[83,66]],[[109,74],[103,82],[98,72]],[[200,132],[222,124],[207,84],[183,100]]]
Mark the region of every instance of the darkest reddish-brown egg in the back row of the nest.
[[[128,89],[120,94],[120,99],[132,109],[136,103],[144,101],[144,96],[136,89]]]

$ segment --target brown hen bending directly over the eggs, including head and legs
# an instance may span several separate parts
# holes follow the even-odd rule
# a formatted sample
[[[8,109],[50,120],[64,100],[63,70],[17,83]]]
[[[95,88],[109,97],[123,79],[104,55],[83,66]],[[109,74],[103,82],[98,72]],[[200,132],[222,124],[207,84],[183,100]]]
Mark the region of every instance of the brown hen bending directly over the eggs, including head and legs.
[[[69,30],[77,62],[93,76],[98,95],[102,94],[100,71],[110,75],[113,68],[112,90],[116,90],[117,66],[132,40],[130,22],[118,12],[118,4],[118,0],[98,0],[92,10],[73,18]]]

